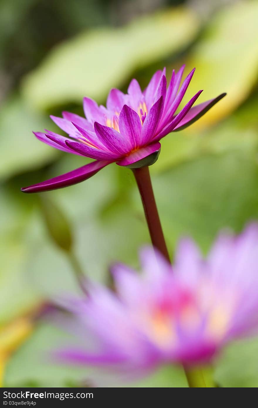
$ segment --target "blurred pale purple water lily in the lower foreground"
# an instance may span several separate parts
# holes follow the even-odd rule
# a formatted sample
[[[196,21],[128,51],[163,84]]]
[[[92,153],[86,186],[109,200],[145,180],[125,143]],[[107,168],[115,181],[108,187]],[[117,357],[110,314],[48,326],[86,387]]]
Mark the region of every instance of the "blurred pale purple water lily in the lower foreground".
[[[206,259],[183,239],[175,259],[172,267],[145,248],[141,275],[113,268],[116,293],[93,285],[88,298],[74,299],[82,346],[59,357],[139,374],[162,363],[207,362],[228,341],[257,333],[258,224],[237,237],[219,235]]]

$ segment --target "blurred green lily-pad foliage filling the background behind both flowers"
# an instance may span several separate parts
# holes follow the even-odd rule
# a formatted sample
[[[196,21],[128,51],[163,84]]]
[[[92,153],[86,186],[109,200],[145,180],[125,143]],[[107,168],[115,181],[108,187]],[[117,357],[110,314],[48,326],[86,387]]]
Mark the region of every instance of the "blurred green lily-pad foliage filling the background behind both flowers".
[[[71,265],[46,231],[40,200],[20,193],[21,186],[87,162],[33,137],[31,130],[56,130],[46,110],[82,113],[84,95],[103,103],[112,86],[126,89],[132,76],[144,87],[164,65],[168,71],[183,62],[187,69],[196,66],[188,96],[198,89],[204,89],[204,99],[223,91],[228,96],[196,125],[162,140],[151,167],[169,251],[185,234],[207,251],[221,228],[240,231],[258,219],[258,4],[233,3],[201,20],[194,9],[160,10],[168,2],[157,1],[151,10],[143,7],[142,17],[128,13],[125,25],[118,18],[122,6],[114,1],[1,3],[2,324],[43,299],[78,293]],[[138,266],[138,248],[150,239],[129,169],[112,164],[45,197],[50,214],[63,213],[71,222],[75,251],[92,279],[108,283],[108,265],[115,260]],[[49,324],[36,326],[9,360],[4,385],[87,381],[90,369],[50,364],[47,353],[60,341],[73,339]],[[218,384],[257,387],[257,348],[257,339],[229,346],[214,364]],[[164,367],[128,386],[185,387],[186,382],[180,368]]]

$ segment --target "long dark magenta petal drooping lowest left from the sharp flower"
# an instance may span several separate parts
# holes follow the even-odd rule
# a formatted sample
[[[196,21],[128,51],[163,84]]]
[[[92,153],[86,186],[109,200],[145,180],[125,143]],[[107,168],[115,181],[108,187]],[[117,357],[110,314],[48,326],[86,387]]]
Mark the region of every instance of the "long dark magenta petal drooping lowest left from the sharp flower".
[[[42,191],[55,190],[56,188],[71,186],[87,180],[108,164],[109,162],[92,162],[86,164],[85,166],[79,167],[79,169],[69,171],[69,173],[43,181],[42,183],[33,184],[33,186],[29,187],[23,187],[21,190],[23,193],[40,193]]]

